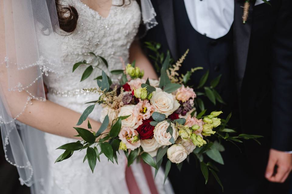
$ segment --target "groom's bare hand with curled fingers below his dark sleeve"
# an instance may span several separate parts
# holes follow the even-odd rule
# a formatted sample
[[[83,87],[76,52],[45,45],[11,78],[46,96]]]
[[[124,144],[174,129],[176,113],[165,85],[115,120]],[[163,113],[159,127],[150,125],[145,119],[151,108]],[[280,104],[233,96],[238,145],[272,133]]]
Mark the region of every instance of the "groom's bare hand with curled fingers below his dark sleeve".
[[[291,170],[292,154],[270,149],[266,179],[271,182],[284,182]]]

